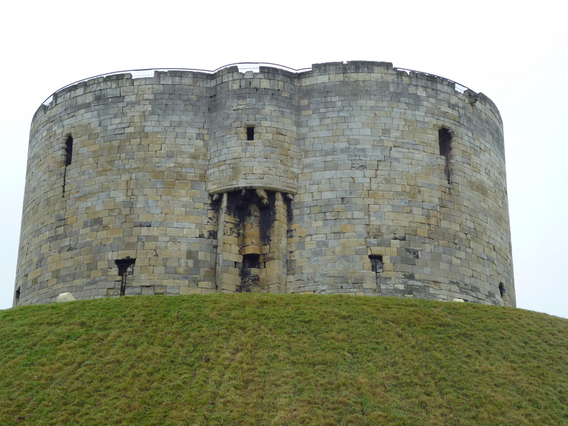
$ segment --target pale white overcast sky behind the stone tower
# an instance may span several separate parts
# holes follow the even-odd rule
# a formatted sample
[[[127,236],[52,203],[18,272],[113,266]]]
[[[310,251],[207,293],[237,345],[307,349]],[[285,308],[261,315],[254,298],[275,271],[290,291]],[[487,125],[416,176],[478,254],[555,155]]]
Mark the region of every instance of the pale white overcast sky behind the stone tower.
[[[378,60],[490,97],[505,126],[518,307],[568,318],[568,30],[562,2],[31,1],[0,18],[0,309],[11,307],[28,131],[66,84],[152,67]],[[396,3],[396,5],[395,5]]]

